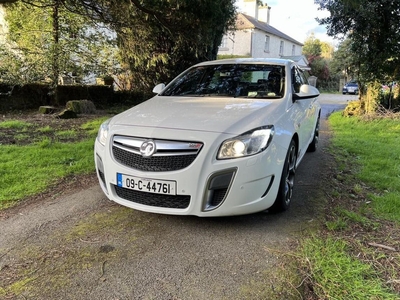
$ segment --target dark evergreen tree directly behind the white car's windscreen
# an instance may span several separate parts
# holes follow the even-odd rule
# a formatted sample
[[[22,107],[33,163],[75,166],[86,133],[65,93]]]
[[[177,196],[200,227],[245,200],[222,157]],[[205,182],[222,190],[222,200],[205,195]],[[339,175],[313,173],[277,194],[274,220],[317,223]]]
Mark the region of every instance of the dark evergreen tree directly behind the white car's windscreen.
[[[118,34],[136,88],[169,82],[190,65],[216,59],[234,25],[235,0],[75,0]]]

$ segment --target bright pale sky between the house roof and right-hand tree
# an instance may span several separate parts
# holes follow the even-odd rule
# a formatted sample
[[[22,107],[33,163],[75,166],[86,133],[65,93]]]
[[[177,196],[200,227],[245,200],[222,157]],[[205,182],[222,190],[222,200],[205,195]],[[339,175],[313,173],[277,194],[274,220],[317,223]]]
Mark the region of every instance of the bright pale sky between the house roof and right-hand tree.
[[[237,0],[239,8],[243,0]],[[270,25],[294,38],[296,41],[304,43],[306,38],[314,33],[315,37],[322,42],[338,44],[337,40],[326,34],[325,26],[321,26],[315,18],[329,16],[329,12],[318,10],[318,5],[314,0],[263,0],[271,7]]]

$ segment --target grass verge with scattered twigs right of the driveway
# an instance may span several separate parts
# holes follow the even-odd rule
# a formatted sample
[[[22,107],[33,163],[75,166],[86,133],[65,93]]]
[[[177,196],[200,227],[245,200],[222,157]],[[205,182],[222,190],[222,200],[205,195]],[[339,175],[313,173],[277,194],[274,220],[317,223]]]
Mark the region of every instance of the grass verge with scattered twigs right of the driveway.
[[[300,243],[306,299],[400,299],[400,119],[330,117],[338,170]]]

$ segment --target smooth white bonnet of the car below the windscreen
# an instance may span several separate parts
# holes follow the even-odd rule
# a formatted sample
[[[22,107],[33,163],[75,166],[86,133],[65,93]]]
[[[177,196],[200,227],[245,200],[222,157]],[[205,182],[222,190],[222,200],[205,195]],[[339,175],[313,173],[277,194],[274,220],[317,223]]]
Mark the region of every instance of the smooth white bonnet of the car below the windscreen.
[[[281,101],[156,96],[117,115],[111,125],[241,134],[271,124]]]

